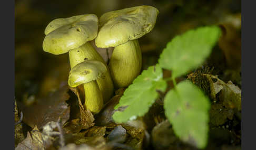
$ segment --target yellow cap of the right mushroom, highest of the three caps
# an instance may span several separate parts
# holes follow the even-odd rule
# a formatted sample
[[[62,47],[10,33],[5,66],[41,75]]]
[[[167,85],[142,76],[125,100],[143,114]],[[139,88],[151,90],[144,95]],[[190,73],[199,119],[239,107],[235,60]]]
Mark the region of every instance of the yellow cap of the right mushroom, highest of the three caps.
[[[97,47],[115,47],[149,33],[159,11],[152,6],[136,6],[105,13],[100,18]]]

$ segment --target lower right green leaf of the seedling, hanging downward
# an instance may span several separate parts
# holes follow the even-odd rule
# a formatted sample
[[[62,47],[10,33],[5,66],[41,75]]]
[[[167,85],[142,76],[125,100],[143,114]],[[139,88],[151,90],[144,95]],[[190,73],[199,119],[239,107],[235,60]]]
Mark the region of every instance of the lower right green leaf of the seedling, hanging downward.
[[[164,110],[175,134],[198,148],[207,144],[209,99],[189,80],[180,82],[164,99]]]

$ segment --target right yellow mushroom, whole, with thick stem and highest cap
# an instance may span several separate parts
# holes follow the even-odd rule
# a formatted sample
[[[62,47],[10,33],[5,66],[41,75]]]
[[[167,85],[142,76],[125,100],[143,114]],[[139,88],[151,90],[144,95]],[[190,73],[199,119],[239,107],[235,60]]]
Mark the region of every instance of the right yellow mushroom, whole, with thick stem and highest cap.
[[[115,87],[127,87],[139,75],[142,56],[137,39],[154,28],[158,14],[152,6],[136,6],[100,17],[95,44],[100,48],[115,47],[109,63]]]

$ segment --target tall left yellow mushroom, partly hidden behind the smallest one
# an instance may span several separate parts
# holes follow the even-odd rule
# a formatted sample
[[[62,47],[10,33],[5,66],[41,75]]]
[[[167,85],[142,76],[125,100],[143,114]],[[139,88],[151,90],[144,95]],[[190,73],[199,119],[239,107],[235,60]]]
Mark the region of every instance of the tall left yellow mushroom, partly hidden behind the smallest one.
[[[98,60],[106,65],[90,40],[97,36],[98,18],[94,14],[54,19],[45,29],[43,50],[54,55],[68,52],[71,69],[84,60]],[[107,65],[106,65],[107,66]],[[110,100],[113,82],[109,68],[97,79],[104,101]]]

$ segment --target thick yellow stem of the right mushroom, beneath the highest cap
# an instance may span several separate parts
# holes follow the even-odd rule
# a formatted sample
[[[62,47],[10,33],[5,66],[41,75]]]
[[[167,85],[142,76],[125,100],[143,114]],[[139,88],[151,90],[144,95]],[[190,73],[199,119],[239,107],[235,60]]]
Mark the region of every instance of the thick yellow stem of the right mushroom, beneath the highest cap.
[[[137,39],[116,46],[110,58],[110,73],[116,88],[127,87],[141,71],[141,49]]]

